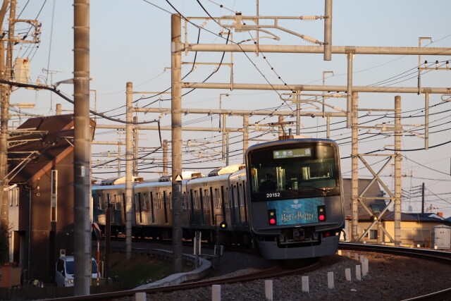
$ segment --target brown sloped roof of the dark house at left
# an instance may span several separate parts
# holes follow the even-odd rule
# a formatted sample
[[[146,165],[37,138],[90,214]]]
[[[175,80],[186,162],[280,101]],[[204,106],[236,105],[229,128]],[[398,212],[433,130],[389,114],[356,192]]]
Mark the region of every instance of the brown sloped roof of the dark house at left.
[[[92,134],[95,122],[91,122]],[[73,152],[73,114],[29,118],[8,138],[9,183],[45,173]]]

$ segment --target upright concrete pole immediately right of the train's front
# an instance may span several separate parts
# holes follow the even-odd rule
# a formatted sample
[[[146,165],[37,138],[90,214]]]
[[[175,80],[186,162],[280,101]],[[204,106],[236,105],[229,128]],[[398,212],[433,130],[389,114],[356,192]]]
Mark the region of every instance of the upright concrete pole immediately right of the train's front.
[[[359,233],[357,233],[359,222],[359,127],[358,127],[358,111],[359,109],[359,97],[357,92],[352,92],[352,107],[351,107],[351,197],[352,197],[352,241],[359,239]]]

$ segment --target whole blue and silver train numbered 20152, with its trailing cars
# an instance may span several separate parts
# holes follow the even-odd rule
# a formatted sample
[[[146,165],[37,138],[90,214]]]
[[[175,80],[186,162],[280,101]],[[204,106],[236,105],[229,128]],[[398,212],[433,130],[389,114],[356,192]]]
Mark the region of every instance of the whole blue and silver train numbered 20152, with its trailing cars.
[[[214,242],[258,245],[266,259],[333,254],[345,224],[338,145],[332,140],[287,139],[247,149],[244,165],[202,176],[183,175],[183,238],[195,231]],[[125,233],[125,184],[92,187],[94,220]],[[171,177],[132,184],[132,235],[171,239]]]

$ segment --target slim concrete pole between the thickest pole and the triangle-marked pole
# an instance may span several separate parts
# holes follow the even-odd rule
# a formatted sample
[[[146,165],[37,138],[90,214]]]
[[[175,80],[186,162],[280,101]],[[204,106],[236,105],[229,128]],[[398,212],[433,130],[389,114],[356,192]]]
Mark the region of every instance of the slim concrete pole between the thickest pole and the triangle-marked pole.
[[[132,257],[132,130],[133,125],[133,84],[126,87],[125,125],[125,259]]]

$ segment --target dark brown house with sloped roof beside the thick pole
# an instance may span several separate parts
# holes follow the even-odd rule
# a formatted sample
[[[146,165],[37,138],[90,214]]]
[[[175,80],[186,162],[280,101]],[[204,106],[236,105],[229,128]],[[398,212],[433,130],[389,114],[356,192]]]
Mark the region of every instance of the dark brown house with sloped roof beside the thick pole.
[[[72,114],[30,118],[8,138],[10,257],[25,279],[51,280],[73,252],[73,126]]]

